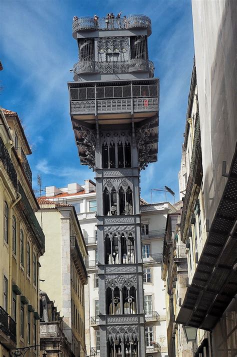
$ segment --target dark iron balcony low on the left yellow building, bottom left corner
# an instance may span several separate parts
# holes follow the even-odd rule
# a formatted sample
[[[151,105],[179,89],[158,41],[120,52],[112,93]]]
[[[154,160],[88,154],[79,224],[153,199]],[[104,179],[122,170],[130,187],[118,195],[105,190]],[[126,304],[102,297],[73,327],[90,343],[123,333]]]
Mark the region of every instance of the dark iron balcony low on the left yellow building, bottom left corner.
[[[0,342],[8,348],[16,346],[16,323],[0,306]]]

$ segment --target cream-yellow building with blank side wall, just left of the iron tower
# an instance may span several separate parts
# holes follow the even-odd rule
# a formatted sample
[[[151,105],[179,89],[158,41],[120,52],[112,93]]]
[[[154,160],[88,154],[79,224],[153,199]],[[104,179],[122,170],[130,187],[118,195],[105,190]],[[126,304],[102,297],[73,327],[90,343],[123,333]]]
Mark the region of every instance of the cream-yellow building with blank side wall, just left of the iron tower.
[[[75,357],[85,356],[84,284],[87,249],[73,205],[38,198],[35,213],[45,234],[40,258],[40,289],[55,299],[63,316],[62,331]],[[49,346],[50,348],[50,346]],[[47,352],[47,346],[45,348]]]

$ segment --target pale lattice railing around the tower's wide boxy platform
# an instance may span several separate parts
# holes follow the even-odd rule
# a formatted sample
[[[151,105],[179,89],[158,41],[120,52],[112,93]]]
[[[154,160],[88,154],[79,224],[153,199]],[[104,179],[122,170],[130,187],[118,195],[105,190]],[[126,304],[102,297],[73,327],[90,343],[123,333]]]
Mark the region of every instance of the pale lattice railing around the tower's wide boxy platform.
[[[95,100],[71,100],[71,114],[94,114],[95,106],[98,113],[107,112],[131,112],[131,99],[97,99]],[[157,111],[158,98],[135,98],[133,99],[133,111]]]

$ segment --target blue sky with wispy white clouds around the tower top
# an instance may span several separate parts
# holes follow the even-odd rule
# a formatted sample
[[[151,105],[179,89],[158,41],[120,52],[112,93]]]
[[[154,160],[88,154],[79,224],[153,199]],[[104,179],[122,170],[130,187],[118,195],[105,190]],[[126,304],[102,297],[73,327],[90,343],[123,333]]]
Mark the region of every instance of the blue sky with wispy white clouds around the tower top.
[[[72,17],[107,12],[151,18],[149,59],[160,78],[158,161],[141,171],[141,196],[167,185],[178,199],[178,170],[193,63],[190,0],[1,0],[0,105],[17,111],[32,155],[33,188],[83,183],[94,172],[81,166],[71,129],[67,81],[77,61]],[[167,195],[170,201],[172,196]],[[153,202],[163,201],[153,192]]]

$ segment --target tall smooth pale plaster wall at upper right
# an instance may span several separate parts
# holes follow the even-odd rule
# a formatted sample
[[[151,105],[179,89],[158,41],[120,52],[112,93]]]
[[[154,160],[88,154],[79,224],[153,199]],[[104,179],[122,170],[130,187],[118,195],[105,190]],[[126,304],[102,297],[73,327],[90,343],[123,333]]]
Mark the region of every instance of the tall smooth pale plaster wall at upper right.
[[[206,219],[220,201],[237,137],[235,0],[192,0]]]

